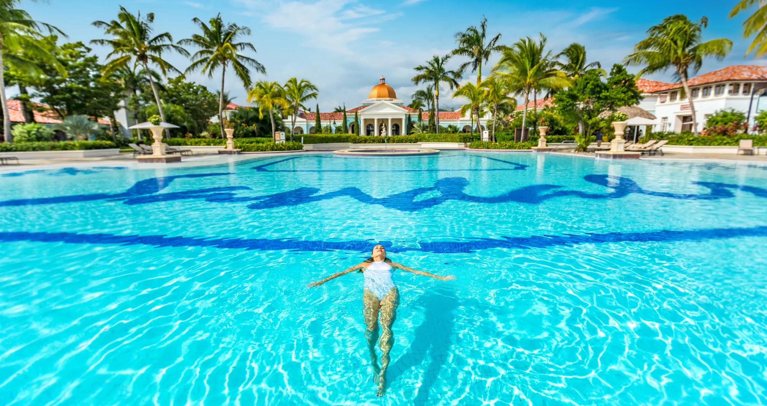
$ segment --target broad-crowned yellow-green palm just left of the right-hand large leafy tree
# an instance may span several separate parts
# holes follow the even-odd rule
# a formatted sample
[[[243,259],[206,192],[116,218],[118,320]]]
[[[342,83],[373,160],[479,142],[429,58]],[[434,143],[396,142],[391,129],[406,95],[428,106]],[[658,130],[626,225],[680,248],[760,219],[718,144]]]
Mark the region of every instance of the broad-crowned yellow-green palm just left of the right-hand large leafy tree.
[[[520,38],[512,47],[503,51],[501,60],[493,71],[502,77],[512,93],[525,96],[522,113],[522,133],[527,126],[527,110],[530,93],[541,89],[567,87],[570,80],[565,73],[551,66],[551,51],[544,53],[546,37],[536,43],[532,38]]]

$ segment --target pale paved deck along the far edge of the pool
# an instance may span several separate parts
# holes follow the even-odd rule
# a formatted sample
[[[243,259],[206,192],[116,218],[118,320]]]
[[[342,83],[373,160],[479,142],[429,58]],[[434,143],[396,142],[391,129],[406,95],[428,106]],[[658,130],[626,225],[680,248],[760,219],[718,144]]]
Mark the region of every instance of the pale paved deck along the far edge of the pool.
[[[304,150],[289,152],[291,154],[314,154],[319,151]],[[329,152],[329,151],[328,151]],[[473,152],[473,151],[472,151]],[[489,149],[487,152],[494,152]],[[67,165],[107,165],[107,166],[124,166],[128,165],[135,168],[169,168],[177,166],[197,166],[197,165],[215,165],[226,162],[237,162],[247,159],[255,159],[263,156],[278,156],[285,155],[287,152],[272,152],[272,153],[245,153],[241,155],[219,155],[218,152],[196,152],[193,156],[184,156],[180,163],[170,164],[139,164],[137,159],[133,158],[133,152],[120,152],[119,156],[98,156],[93,158],[54,158],[54,159],[22,159],[18,165],[0,165],[0,171],[14,170],[18,168],[32,168],[32,167],[44,167],[44,166],[67,166]],[[509,152],[519,153],[519,152]],[[524,153],[524,152],[523,152]],[[531,152],[532,153],[532,152]],[[546,153],[546,152],[536,152]],[[594,158],[594,153],[573,153],[573,152],[551,152],[552,155],[564,155],[564,156],[581,156],[584,158]],[[5,154],[10,155],[10,154]],[[735,154],[713,154],[713,153],[667,153],[666,155],[657,156],[642,156],[640,159],[672,159],[672,160],[698,160],[698,161],[726,161],[726,162],[765,162],[767,163],[767,156],[743,156]]]

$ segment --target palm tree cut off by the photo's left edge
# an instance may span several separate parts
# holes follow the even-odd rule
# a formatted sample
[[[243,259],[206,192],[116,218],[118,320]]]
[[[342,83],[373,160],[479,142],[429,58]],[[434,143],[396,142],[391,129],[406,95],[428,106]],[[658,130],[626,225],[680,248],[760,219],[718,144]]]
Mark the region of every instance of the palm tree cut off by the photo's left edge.
[[[19,2],[21,0],[0,0],[0,99],[2,99],[2,113],[5,119],[3,120],[5,142],[13,140],[3,77],[6,61],[17,67],[33,67],[33,70],[38,62],[43,61],[55,67],[62,76],[67,74],[61,63],[49,51],[52,49],[51,40],[44,38],[39,31],[45,28],[51,34],[58,32],[63,35],[64,33],[53,25],[33,20],[27,11],[15,8]],[[21,56],[22,51],[33,59]]]

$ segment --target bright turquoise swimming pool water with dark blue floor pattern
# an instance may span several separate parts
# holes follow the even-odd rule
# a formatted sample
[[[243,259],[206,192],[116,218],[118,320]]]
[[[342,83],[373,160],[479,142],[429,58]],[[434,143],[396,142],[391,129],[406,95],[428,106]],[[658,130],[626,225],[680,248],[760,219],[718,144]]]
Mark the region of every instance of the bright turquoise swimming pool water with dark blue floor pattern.
[[[0,172],[2,404],[767,402],[767,166],[442,152]],[[375,397],[360,273],[395,273]]]

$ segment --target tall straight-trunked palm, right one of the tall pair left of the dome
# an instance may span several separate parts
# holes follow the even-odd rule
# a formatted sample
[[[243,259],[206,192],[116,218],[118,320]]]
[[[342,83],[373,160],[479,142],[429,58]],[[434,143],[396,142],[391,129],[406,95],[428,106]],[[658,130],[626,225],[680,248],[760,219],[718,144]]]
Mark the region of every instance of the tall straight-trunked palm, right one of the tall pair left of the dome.
[[[192,38],[186,38],[179,41],[182,45],[192,45],[199,47],[192,56],[192,64],[186,68],[184,74],[200,70],[202,74],[213,77],[213,72],[221,67],[221,92],[224,92],[224,79],[226,76],[226,67],[232,66],[235,74],[242,81],[242,86],[246,89],[250,87],[250,69],[260,74],[266,74],[264,65],[252,57],[246,57],[241,54],[242,51],[253,51],[255,47],[249,42],[237,42],[242,35],[250,35],[250,28],[240,27],[234,23],[226,24],[221,19],[221,13],[210,19],[210,26],[206,25],[199,18],[193,18],[192,21],[199,27],[202,34],[194,34]],[[224,100],[219,98],[219,117],[224,113]],[[224,123],[219,119],[219,129],[221,138],[224,138]]]

